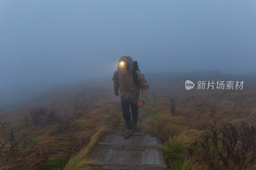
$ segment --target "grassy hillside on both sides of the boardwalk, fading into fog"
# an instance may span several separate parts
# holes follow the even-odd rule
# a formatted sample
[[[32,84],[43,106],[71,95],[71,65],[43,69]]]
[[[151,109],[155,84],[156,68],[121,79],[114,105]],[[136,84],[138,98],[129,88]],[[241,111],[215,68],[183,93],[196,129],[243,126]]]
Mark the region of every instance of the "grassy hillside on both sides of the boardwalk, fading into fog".
[[[255,169],[255,78],[218,72],[192,75],[145,73],[150,94],[139,109],[144,119],[141,130],[161,138],[168,169]],[[244,80],[245,84],[242,90],[187,91],[187,79]],[[120,103],[110,100],[112,83],[109,78],[56,87],[5,111],[0,167],[98,166],[90,159],[94,144],[109,129],[125,129]],[[175,115],[170,114],[170,97],[176,100]]]

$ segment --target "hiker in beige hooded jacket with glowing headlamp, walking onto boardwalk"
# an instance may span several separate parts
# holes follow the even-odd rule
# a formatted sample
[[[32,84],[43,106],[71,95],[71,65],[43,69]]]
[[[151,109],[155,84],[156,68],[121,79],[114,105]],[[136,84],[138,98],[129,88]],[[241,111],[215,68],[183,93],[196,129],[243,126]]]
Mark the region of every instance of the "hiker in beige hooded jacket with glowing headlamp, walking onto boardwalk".
[[[139,130],[138,127],[138,115],[139,107],[143,107],[146,99],[148,98],[149,86],[144,78],[144,75],[140,73],[137,65],[137,61],[132,61],[130,56],[122,56],[118,60],[117,70],[113,75],[114,82],[114,94],[119,95],[120,87],[120,98],[121,107],[123,111],[123,117],[127,129],[124,133],[124,137],[130,137],[132,130]],[[141,97],[140,96],[141,88]],[[130,113],[130,105],[132,110],[132,120]]]

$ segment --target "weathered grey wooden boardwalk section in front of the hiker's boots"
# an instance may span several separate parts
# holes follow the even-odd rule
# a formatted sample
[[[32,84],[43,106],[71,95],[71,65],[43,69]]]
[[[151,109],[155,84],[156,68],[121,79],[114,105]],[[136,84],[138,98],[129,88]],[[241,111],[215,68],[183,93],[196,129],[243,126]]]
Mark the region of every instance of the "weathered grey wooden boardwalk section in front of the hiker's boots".
[[[124,130],[105,133],[92,151],[103,169],[166,169],[161,140],[150,131],[133,131],[124,138]]]

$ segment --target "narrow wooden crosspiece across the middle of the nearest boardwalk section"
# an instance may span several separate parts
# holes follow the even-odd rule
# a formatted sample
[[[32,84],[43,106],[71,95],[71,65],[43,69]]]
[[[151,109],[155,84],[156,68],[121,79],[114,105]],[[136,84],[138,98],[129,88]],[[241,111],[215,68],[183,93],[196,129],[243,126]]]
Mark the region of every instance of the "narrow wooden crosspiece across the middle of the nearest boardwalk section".
[[[114,144],[114,143],[102,143],[98,142],[96,143],[96,146],[105,146],[105,147],[111,147],[116,149],[123,149],[123,148],[159,148],[162,145],[157,144]]]

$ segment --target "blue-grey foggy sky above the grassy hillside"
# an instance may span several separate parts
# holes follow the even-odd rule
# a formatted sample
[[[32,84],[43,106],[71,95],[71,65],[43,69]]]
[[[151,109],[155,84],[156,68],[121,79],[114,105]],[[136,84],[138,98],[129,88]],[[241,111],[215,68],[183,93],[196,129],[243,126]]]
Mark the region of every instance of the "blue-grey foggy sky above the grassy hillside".
[[[256,1],[0,1],[0,104],[143,72],[255,73]]]

